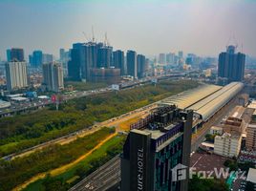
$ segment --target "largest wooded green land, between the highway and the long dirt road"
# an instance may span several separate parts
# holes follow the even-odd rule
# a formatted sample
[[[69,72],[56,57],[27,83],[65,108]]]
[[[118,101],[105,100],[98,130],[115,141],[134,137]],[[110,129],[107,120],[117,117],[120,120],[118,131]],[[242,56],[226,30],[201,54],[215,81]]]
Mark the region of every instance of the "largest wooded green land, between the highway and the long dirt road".
[[[0,119],[0,157],[67,135],[135,110],[199,84],[191,80],[161,81],[118,93],[80,97],[32,114]]]

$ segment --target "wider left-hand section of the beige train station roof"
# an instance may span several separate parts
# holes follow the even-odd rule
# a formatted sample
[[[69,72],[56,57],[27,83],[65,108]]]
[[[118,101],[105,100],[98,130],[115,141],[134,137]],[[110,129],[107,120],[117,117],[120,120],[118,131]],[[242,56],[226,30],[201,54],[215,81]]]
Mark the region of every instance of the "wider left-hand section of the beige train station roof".
[[[178,108],[186,109],[221,89],[222,86],[203,84],[198,88],[167,97],[161,100],[160,104],[176,105]]]

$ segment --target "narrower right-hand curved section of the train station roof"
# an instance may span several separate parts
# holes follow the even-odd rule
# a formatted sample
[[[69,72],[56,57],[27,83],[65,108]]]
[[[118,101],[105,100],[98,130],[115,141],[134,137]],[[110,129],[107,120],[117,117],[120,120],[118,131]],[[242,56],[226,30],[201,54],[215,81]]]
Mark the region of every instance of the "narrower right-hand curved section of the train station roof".
[[[219,91],[203,98],[187,109],[194,110],[195,113],[202,117],[203,121],[206,121],[224,107],[234,96],[237,96],[243,88],[244,84],[241,82],[229,83]]]

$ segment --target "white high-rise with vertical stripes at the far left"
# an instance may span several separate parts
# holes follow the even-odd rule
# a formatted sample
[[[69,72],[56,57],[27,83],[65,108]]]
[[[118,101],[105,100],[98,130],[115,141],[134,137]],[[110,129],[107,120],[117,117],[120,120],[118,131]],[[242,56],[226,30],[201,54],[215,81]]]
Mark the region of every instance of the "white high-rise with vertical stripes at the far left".
[[[9,91],[28,87],[27,63],[6,63],[6,78]]]

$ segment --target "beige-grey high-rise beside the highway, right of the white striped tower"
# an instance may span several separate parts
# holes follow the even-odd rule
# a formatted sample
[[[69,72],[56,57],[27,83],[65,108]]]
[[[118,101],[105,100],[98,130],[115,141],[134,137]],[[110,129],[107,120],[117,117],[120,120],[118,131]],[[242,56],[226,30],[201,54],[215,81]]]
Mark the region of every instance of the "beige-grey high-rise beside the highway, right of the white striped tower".
[[[48,91],[60,92],[64,88],[63,71],[59,63],[43,64],[43,84]]]

